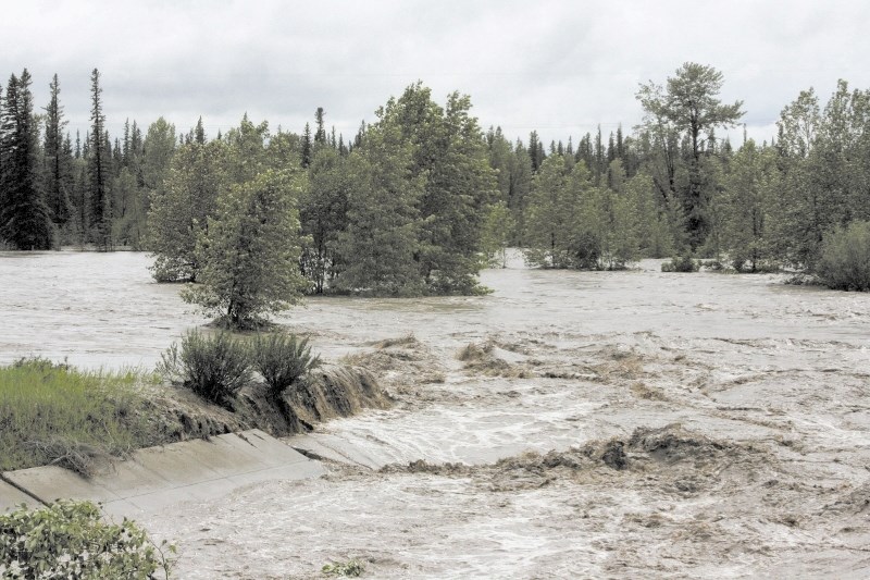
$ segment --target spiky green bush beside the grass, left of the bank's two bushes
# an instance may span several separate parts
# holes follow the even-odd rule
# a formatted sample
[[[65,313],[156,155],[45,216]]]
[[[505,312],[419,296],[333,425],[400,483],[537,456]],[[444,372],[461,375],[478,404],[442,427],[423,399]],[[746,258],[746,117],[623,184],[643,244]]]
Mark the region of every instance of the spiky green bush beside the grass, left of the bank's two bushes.
[[[158,372],[217,405],[226,406],[251,378],[245,345],[224,331],[212,336],[188,331],[181,350],[173,343],[161,359]]]

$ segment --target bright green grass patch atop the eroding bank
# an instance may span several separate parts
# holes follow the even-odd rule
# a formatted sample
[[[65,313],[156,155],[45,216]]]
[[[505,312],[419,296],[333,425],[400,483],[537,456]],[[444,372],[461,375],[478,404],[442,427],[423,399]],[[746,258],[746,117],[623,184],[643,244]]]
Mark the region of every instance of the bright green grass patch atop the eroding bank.
[[[0,367],[0,469],[95,460],[150,444],[136,386],[151,374],[82,371],[42,358]]]

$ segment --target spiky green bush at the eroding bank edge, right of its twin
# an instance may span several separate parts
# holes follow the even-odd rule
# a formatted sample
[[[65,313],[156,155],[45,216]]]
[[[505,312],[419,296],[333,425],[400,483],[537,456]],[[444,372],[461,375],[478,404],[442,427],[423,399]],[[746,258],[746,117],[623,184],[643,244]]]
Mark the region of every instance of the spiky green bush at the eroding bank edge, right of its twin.
[[[311,356],[308,338],[275,332],[258,334],[251,343],[251,362],[263,375],[273,396],[281,396],[294,381],[320,366],[320,356]]]

